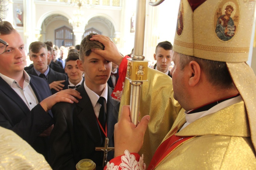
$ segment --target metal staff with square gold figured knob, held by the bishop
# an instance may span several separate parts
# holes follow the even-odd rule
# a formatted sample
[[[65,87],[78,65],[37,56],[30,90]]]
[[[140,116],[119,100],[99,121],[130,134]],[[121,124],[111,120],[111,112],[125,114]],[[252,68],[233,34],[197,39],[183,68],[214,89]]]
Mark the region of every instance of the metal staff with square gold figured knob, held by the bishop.
[[[140,93],[143,81],[147,81],[148,61],[144,61],[146,0],[137,0],[134,49],[131,59],[127,62],[127,76],[131,84],[130,117],[131,122],[138,125]]]

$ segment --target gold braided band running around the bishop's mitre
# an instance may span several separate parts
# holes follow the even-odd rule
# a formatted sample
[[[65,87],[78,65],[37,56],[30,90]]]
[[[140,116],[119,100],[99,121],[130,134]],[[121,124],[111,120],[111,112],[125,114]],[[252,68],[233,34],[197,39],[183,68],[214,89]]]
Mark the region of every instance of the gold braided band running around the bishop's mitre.
[[[195,48],[200,50],[206,51],[217,51],[217,52],[249,52],[250,47],[241,47],[241,48],[229,48],[229,47],[214,47],[208,45],[201,45],[201,44],[193,44],[193,43],[185,43],[182,41],[174,40],[174,44],[187,47],[187,48]]]

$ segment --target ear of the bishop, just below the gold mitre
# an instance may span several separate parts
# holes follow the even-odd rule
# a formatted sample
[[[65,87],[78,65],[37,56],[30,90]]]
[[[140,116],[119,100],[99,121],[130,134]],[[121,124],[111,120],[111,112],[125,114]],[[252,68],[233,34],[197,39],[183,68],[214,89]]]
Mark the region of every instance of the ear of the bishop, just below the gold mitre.
[[[189,81],[188,84],[190,87],[194,87],[200,80],[201,68],[196,61],[189,62]]]

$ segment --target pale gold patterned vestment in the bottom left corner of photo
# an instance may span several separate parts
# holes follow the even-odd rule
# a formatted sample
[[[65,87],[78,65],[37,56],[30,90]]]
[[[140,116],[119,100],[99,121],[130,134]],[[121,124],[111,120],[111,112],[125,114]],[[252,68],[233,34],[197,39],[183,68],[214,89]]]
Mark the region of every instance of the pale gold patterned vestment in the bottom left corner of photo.
[[[0,139],[0,169],[52,169],[43,155],[12,130],[0,127]]]

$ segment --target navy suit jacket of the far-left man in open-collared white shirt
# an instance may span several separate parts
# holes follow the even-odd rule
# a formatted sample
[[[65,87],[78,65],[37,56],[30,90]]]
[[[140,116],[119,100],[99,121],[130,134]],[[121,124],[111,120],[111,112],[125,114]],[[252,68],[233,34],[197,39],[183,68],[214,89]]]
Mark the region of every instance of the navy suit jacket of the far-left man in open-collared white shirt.
[[[30,77],[30,86],[38,102],[52,95],[45,80],[37,76]],[[52,113],[47,114],[40,104],[30,111],[22,98],[1,77],[0,84],[0,126],[15,132],[47,160],[48,138],[38,135],[53,124]]]

